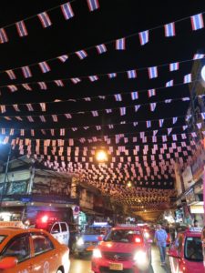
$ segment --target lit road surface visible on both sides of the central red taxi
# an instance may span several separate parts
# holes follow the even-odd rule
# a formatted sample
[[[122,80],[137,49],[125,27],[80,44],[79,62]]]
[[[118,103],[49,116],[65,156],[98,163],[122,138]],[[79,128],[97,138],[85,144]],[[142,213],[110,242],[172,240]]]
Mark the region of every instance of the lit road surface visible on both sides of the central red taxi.
[[[90,257],[74,258],[71,257],[71,268],[69,273],[90,273]],[[152,247],[152,270],[150,273],[170,273],[169,258],[165,267],[160,266],[159,249]]]

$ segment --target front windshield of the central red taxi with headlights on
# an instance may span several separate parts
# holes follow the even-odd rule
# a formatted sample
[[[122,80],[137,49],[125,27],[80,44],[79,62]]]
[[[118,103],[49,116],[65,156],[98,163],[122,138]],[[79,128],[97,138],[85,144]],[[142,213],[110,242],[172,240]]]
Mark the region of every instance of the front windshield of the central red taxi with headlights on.
[[[142,236],[139,230],[114,229],[108,233],[104,241],[140,243],[142,242]]]

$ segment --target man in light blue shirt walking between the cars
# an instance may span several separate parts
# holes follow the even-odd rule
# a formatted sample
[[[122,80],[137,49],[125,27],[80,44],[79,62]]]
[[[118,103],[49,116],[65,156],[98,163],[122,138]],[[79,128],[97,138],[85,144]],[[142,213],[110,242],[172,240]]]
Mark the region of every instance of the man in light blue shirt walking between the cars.
[[[158,225],[157,230],[155,231],[155,241],[159,248],[161,266],[165,265],[167,238],[167,232],[161,228],[161,225]]]

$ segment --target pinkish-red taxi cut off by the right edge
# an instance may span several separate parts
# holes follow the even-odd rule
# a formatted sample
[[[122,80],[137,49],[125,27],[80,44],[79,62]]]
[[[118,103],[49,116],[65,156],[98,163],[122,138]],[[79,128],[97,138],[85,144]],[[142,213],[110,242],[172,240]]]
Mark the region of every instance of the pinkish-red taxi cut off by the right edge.
[[[172,273],[204,272],[201,230],[201,227],[190,227],[179,232],[168,251]]]

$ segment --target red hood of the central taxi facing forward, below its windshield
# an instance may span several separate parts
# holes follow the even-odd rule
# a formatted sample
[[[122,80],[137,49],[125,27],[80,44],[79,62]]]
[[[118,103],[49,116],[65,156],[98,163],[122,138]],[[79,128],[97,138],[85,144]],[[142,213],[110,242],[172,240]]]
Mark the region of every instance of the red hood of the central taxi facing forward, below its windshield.
[[[98,248],[101,251],[108,252],[123,252],[123,253],[134,253],[138,249],[143,250],[143,247],[136,244],[128,244],[128,243],[118,243],[118,242],[100,242]]]

